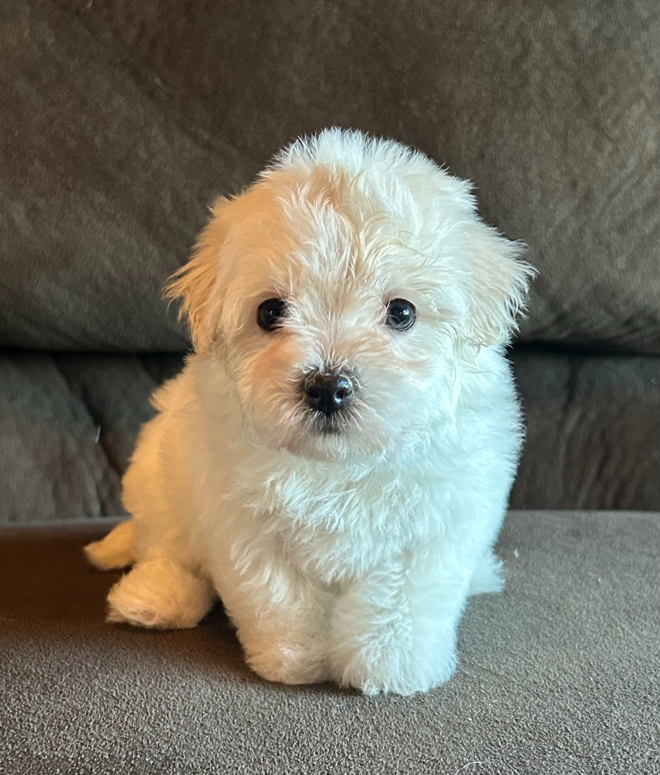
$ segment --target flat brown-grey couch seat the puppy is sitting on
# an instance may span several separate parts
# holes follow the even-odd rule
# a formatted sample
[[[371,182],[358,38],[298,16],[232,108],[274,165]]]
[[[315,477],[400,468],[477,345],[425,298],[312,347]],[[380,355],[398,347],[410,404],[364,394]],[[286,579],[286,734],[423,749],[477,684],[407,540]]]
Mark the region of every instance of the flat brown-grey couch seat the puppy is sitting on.
[[[504,594],[469,602],[458,672],[413,698],[266,684],[222,611],[104,625],[95,532],[0,532],[3,775],[660,772],[660,514],[511,513]]]

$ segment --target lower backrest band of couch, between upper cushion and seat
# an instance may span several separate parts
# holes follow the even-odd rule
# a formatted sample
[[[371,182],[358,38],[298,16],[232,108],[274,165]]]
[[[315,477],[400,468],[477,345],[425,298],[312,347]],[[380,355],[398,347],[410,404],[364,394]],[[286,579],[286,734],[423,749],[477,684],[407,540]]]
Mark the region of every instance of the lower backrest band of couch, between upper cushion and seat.
[[[512,353],[514,508],[660,510],[660,358]],[[122,513],[149,396],[181,356],[0,352],[0,524]]]

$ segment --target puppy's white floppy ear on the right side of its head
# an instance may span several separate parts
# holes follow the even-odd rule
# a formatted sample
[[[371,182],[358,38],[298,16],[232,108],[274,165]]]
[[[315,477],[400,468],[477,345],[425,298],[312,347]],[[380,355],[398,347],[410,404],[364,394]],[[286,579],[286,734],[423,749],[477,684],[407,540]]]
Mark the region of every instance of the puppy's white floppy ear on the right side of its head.
[[[469,236],[466,249],[471,263],[468,339],[476,346],[507,342],[517,330],[517,316],[524,310],[536,270],[521,260],[522,243],[482,223]]]

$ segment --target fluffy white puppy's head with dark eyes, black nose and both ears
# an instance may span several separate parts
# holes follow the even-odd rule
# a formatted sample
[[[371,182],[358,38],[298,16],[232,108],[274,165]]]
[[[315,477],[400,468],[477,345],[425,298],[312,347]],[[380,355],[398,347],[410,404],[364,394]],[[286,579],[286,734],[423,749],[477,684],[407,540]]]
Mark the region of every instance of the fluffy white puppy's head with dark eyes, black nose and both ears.
[[[423,439],[462,358],[510,336],[531,274],[469,184],[359,133],[297,141],[212,213],[167,293],[250,432],[303,456]]]

